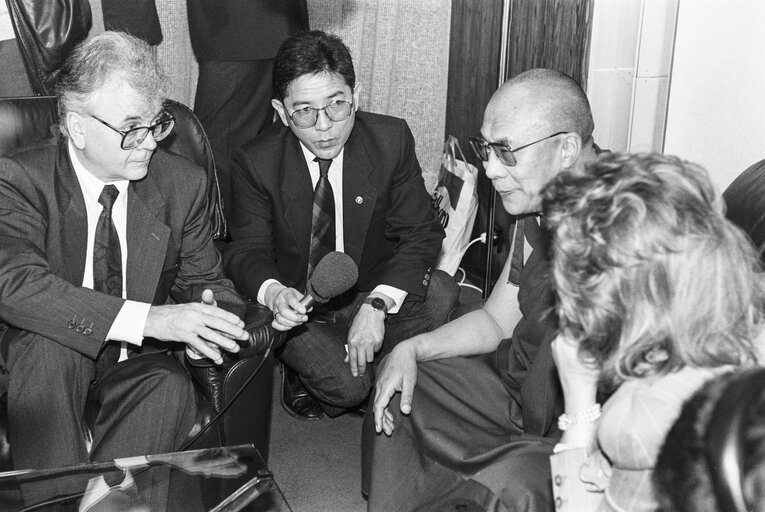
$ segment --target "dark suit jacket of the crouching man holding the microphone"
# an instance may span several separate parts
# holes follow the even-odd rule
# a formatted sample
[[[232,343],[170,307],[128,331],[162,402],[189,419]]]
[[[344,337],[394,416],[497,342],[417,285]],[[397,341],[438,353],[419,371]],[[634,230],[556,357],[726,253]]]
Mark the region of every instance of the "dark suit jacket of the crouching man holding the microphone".
[[[424,297],[444,237],[403,119],[357,112],[343,157],[345,252],[358,291],[378,284]],[[298,139],[280,125],[234,155],[227,275],[255,298],[269,278],[305,289],[313,189]]]

